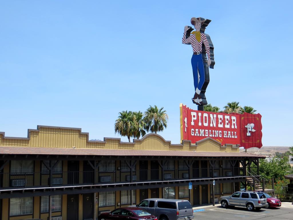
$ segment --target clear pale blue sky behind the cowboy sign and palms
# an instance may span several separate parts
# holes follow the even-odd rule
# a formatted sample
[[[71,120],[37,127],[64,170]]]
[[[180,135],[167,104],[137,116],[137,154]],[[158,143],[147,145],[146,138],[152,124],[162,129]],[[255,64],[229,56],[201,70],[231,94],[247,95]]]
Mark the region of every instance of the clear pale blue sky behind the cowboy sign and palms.
[[[163,106],[180,142],[179,104],[191,102],[191,17],[212,22],[213,106],[239,101],[263,123],[264,146],[292,146],[292,1],[0,1],[0,131],[78,127],[120,137],[123,110]],[[126,137],[121,137],[127,141]]]

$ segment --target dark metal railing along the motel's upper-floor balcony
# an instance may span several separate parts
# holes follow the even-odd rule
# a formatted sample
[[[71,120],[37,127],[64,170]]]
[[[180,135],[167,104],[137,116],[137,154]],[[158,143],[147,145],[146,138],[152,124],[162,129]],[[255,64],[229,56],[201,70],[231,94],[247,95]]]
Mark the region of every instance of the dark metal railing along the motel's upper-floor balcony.
[[[153,170],[97,170],[95,171],[66,171],[0,173],[0,188],[35,187],[35,186],[78,186],[106,183],[149,182],[168,180],[190,180],[201,178],[244,176],[243,167],[216,167],[191,169],[153,169]]]

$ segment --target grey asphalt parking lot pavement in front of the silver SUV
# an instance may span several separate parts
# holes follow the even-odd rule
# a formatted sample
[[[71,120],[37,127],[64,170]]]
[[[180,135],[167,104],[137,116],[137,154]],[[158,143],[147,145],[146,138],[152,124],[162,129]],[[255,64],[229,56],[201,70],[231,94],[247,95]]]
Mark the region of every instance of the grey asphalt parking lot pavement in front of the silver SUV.
[[[293,206],[293,205],[292,205]],[[201,209],[195,209],[193,212],[195,219],[215,220],[215,219],[265,219],[265,220],[282,220],[293,219],[293,208],[273,208],[247,211],[244,207],[229,207],[228,209],[221,206],[206,206]]]

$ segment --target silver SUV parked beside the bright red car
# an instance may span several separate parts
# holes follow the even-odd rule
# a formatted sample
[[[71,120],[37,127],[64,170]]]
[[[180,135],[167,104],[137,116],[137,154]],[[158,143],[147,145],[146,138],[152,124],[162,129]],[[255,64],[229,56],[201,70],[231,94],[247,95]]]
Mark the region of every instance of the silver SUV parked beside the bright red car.
[[[238,191],[231,196],[221,196],[220,203],[223,208],[228,206],[242,206],[246,207],[248,211],[261,209],[268,205],[267,198],[263,192],[254,191]]]

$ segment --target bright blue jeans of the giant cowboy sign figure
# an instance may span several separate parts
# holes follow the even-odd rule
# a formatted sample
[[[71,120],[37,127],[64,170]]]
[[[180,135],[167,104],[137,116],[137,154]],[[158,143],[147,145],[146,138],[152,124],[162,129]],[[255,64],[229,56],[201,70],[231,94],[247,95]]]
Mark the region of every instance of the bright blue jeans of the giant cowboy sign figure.
[[[202,89],[202,85],[205,82],[205,67],[203,65],[202,55],[193,55],[191,57],[191,65],[192,65],[192,71],[193,71],[193,84],[194,89],[198,88],[199,90]],[[200,80],[198,81],[198,74],[200,76]]]

